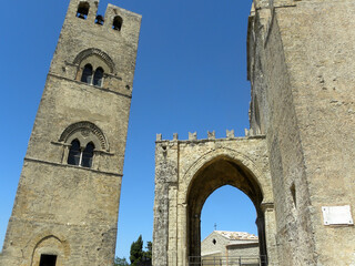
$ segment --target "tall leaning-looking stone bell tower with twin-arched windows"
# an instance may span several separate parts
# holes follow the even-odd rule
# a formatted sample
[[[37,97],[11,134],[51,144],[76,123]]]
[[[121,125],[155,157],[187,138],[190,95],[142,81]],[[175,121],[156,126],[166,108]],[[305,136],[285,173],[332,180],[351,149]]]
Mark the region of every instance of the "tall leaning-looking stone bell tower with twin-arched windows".
[[[4,239],[3,266],[112,265],[141,16],[71,0]]]

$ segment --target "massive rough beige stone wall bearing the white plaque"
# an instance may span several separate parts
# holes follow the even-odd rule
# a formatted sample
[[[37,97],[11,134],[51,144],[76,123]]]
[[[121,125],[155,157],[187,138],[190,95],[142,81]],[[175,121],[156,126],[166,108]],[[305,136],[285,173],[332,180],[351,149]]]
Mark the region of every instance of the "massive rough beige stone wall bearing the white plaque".
[[[322,215],[322,206],[355,203],[354,8],[353,1],[274,1],[253,17],[248,65],[258,110],[252,106],[251,127],[262,114],[281,265],[355,263],[354,227],[325,226]]]

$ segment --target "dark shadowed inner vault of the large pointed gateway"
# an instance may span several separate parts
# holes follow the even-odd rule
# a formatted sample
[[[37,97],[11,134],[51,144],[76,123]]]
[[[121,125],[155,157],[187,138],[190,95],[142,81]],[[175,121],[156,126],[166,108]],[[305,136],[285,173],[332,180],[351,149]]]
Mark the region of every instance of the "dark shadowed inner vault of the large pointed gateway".
[[[225,185],[239,188],[252,201],[256,211],[260,263],[261,265],[267,265],[265,221],[261,207],[263,192],[255,175],[246,166],[227,156],[220,156],[201,167],[189,187],[186,219],[189,260],[201,259],[201,213],[203,205],[214,191]],[[231,205],[237,208],[239,203],[231,203]]]

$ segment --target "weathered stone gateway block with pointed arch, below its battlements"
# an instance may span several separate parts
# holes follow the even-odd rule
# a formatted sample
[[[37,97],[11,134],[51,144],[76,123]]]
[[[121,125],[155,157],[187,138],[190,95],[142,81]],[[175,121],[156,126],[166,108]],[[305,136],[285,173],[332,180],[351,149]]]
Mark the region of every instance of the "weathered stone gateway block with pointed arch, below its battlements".
[[[200,256],[200,215],[214,190],[232,185],[253,201],[261,252],[276,257],[273,188],[264,136],[158,141],[155,150],[153,264],[185,265]],[[277,264],[273,264],[277,265]]]

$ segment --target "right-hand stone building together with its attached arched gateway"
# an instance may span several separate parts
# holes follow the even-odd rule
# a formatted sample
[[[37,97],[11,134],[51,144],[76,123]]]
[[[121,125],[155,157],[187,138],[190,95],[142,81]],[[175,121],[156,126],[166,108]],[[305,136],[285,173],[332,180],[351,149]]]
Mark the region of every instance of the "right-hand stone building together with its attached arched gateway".
[[[223,184],[254,202],[268,265],[355,265],[354,226],[322,214],[348,205],[354,215],[355,3],[254,0],[248,22],[246,137],[156,142],[154,209],[168,214],[154,214],[154,266],[200,255],[199,211]]]

